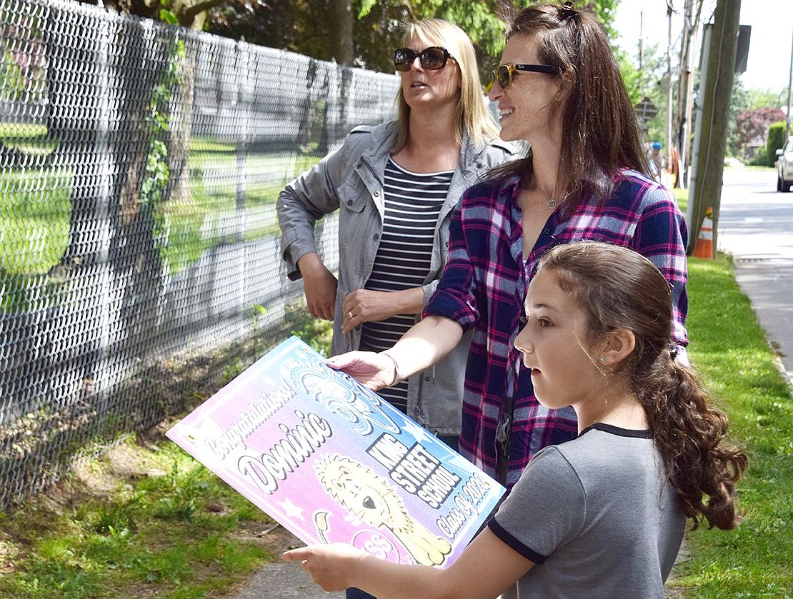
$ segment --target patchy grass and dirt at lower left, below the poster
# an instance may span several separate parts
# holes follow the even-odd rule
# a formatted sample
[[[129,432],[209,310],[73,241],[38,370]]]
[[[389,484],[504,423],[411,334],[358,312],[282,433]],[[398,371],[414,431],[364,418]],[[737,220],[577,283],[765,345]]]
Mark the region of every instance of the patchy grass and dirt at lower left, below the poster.
[[[0,517],[0,564],[13,569],[0,597],[220,597],[275,559],[243,534],[272,521],[176,445],[130,438],[110,456]]]

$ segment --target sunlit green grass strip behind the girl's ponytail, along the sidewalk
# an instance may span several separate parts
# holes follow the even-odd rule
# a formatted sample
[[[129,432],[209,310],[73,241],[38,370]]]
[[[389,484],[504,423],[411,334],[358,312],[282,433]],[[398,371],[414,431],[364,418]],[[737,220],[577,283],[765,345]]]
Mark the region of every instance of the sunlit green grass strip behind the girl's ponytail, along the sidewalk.
[[[751,460],[739,484],[745,521],[699,528],[692,559],[676,571],[685,597],[793,597],[793,403],[777,357],[732,276],[728,256],[691,258],[691,362],[730,416]]]

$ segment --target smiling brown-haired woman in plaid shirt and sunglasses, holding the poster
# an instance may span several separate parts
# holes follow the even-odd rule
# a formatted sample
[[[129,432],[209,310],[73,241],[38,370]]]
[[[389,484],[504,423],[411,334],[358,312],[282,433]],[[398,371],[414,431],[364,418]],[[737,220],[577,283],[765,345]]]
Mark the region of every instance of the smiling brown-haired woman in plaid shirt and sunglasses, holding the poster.
[[[672,193],[648,172],[642,135],[619,66],[596,17],[533,6],[508,31],[488,95],[501,138],[525,139],[525,158],[465,191],[449,258],[423,319],[391,349],[328,362],[370,388],[424,370],[473,329],[460,451],[511,487],[531,456],[576,436],[570,408],[534,397],[515,349],[522,305],[542,254],[592,239],[649,258],[672,289],[670,343],[684,359],[687,231]]]

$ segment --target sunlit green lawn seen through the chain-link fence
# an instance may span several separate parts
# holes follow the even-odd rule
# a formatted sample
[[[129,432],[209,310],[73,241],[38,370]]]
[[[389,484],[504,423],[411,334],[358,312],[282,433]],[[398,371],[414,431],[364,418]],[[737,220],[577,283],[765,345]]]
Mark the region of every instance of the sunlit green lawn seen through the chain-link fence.
[[[0,124],[0,138],[7,141],[12,135],[18,140],[43,133],[34,125]],[[228,241],[220,235],[218,225],[220,219],[228,219],[236,210],[235,147],[212,139],[194,139],[191,144],[190,197],[157,208],[167,231],[163,261],[171,273],[190,267],[206,251]],[[308,169],[318,159],[314,155],[246,155],[249,173],[283,172],[285,176],[268,183],[246,182],[245,208],[271,207],[292,174]],[[218,173],[232,176],[218,180]],[[6,277],[20,279],[10,288],[27,288],[27,279],[58,265],[69,242],[73,179],[74,173],[69,170],[47,168],[0,173],[0,271]],[[246,241],[267,235],[278,235],[274,211],[269,219],[255,225],[246,223],[243,232]],[[18,296],[3,303],[25,309],[25,302]]]

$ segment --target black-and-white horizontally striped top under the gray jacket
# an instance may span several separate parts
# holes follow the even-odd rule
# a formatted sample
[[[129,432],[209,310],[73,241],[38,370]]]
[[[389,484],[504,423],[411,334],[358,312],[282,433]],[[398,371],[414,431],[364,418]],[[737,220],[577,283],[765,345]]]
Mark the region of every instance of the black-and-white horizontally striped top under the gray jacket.
[[[421,287],[430,272],[432,243],[454,170],[412,173],[389,159],[385,166],[385,218],[374,266],[364,288],[395,292]],[[361,327],[362,350],[381,352],[392,347],[416,323],[416,315],[394,315]],[[380,391],[406,412],[408,381]]]

